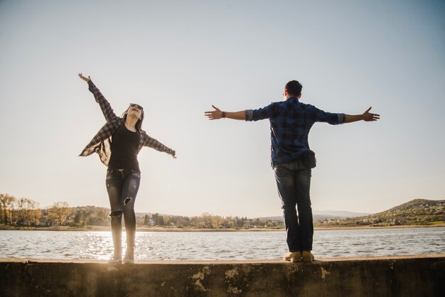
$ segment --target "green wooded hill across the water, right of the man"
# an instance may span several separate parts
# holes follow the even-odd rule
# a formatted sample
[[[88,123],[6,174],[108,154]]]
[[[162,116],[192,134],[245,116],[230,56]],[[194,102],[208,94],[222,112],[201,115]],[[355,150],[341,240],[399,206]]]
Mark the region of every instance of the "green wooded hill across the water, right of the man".
[[[363,217],[319,221],[318,227],[436,225],[445,223],[445,200],[414,199],[389,210]]]

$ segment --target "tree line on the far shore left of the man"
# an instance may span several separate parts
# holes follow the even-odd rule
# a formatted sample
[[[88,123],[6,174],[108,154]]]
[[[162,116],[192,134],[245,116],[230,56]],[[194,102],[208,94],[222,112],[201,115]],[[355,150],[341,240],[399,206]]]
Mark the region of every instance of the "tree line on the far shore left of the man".
[[[11,226],[109,226],[109,208],[92,205],[70,207],[68,202],[54,202],[41,209],[39,203],[28,198],[0,194],[0,224]],[[208,212],[186,217],[159,213],[136,217],[138,227],[177,227],[199,229],[282,227],[279,220],[248,219],[247,217],[222,217]]]

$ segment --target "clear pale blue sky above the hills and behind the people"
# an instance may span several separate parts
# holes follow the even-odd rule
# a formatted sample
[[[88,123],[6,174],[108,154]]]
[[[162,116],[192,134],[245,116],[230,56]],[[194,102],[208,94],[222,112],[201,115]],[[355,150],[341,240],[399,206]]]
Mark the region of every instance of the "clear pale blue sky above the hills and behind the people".
[[[379,212],[445,193],[444,1],[0,1],[0,193],[109,207],[106,168],[79,157],[121,114],[177,151],[143,148],[137,212],[280,215],[269,121],[209,121],[282,100],[380,121],[318,123],[314,210]]]

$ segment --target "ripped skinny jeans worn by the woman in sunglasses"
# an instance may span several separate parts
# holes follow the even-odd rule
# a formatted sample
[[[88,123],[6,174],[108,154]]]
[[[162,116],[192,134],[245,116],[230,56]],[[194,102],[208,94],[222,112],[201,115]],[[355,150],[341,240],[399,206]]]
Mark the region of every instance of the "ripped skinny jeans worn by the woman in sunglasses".
[[[107,192],[114,254],[122,254],[122,214],[124,215],[125,232],[127,234],[127,249],[134,249],[136,235],[136,215],[134,214],[134,201],[136,200],[141,173],[127,169],[112,169],[107,171]]]

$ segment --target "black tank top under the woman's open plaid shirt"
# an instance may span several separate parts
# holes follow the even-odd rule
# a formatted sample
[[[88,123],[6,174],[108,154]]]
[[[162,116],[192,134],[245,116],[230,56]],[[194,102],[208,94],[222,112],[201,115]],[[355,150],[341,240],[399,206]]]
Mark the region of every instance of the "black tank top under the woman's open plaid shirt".
[[[129,131],[125,124],[119,126],[112,135],[111,156],[108,169],[130,169],[139,171],[137,148],[140,136],[138,132]]]

